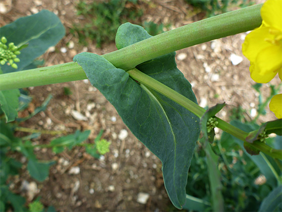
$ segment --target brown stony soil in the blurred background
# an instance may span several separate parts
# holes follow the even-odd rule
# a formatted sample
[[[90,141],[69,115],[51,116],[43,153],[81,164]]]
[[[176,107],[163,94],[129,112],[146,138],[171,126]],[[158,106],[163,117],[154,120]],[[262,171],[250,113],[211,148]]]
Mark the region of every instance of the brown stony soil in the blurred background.
[[[81,46],[78,39],[69,33],[76,17],[76,0],[2,0],[6,11],[1,13],[0,24],[7,24],[21,16],[48,9],[57,14],[66,27],[66,36],[56,45],[55,51],[47,51],[42,58],[45,65],[55,65],[71,62],[74,55],[89,51],[99,55],[116,50],[114,43],[107,43],[102,48],[96,48],[95,42]],[[176,28],[204,17],[204,14],[194,9],[184,0],[145,0],[141,1],[144,9],[142,21],[171,23]],[[230,110],[241,106],[247,120],[254,116],[258,105],[258,92],[252,85],[249,61],[242,55],[241,45],[246,33],[229,36],[211,42],[199,44],[177,51],[176,63],[179,70],[193,86],[198,103],[203,106],[213,106],[216,103],[228,104],[219,117],[229,120]],[[73,48],[67,43],[72,41]],[[61,52],[61,47],[67,51]],[[236,54],[242,57],[242,62],[233,65],[230,56]],[[272,84],[278,84],[275,78]],[[72,94],[64,95],[64,87],[70,88]],[[27,197],[21,192],[24,181],[35,182],[35,195],[27,197],[27,204],[40,197],[44,206],[54,206],[59,212],[68,211],[171,211],[172,207],[163,186],[161,163],[144,145],[139,142],[125,126],[115,108],[88,80],[27,88],[33,97],[29,108],[20,116],[32,112],[40,106],[49,94],[53,98],[44,112],[40,112],[22,124],[37,130],[56,130],[74,133],[75,130],[91,130],[87,140],[93,143],[101,130],[103,138],[111,141],[110,153],[95,159],[85,152],[83,147],[55,155],[51,150],[36,149],[40,160],[54,160],[56,164],[50,168],[50,175],[44,182],[36,182],[26,171],[26,163],[21,175],[12,179],[13,191]],[[263,85],[266,95],[269,85]],[[252,110],[253,109],[253,110]],[[86,116],[87,121],[76,120],[71,111],[76,110]],[[251,113],[252,111],[252,113]],[[256,112],[256,111],[255,111]],[[261,116],[259,122],[275,119],[267,108],[267,116]],[[123,138],[120,133],[128,132]],[[220,134],[220,132],[218,133]],[[17,136],[27,135],[17,132]],[[54,136],[42,134],[32,142],[48,144]],[[19,157],[18,155],[14,157]],[[20,156],[20,161],[26,159]],[[69,174],[73,167],[79,167],[78,174]],[[139,193],[146,193],[149,199],[145,204],[137,202]]]

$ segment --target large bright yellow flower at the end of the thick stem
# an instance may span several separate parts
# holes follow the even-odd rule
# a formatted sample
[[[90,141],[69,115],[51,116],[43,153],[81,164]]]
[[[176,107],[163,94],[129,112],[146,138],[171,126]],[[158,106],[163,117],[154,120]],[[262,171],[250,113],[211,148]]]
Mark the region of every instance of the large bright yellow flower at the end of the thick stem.
[[[242,51],[254,81],[267,83],[277,73],[282,80],[282,0],[267,0],[261,16],[262,25],[246,36]]]

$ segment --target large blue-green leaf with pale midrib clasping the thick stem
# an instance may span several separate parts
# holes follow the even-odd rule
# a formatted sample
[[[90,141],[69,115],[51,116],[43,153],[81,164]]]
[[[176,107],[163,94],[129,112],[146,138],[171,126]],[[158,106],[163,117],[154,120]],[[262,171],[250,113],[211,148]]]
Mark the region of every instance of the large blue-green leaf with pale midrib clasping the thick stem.
[[[138,25],[126,23],[118,29],[116,44],[126,47],[150,37]],[[190,83],[177,69],[175,52],[154,58],[137,68],[196,102]],[[173,205],[185,204],[187,175],[199,137],[199,119],[163,95],[140,85],[129,74],[105,58],[81,53],[74,57],[92,85],[115,106],[133,134],[162,162],[164,185]]]

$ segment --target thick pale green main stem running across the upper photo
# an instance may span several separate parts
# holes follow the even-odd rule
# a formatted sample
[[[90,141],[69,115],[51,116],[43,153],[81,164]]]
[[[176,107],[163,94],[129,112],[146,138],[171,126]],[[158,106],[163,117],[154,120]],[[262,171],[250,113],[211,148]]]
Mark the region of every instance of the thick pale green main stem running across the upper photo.
[[[213,39],[252,30],[262,23],[262,4],[200,20],[154,37],[142,40],[120,50],[104,54],[117,68],[129,70],[147,60]],[[95,68],[95,67],[93,67]],[[46,85],[86,79],[82,68],[65,63],[30,69],[0,76],[0,90]]]

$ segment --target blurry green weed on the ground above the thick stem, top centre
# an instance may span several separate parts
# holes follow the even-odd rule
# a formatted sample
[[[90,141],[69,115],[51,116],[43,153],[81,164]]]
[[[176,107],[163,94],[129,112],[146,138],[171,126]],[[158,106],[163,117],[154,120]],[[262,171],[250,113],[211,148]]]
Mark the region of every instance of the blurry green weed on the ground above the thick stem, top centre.
[[[87,39],[90,39],[101,47],[102,43],[115,40],[122,23],[141,17],[143,12],[138,9],[137,3],[137,0],[80,0],[76,5],[77,15],[83,15],[86,22],[74,24],[71,32],[78,35],[80,43],[87,45]]]

